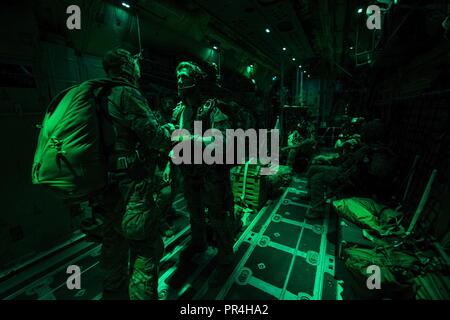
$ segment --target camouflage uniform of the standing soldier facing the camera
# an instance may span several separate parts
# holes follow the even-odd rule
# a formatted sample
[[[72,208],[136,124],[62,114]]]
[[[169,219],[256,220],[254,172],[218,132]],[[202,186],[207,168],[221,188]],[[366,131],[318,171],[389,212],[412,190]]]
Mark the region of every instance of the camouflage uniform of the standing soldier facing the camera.
[[[230,119],[221,108],[218,100],[211,99],[203,103],[194,112],[192,119],[186,119],[180,127],[193,132],[194,121],[202,121],[202,129],[218,129],[224,134],[231,128]],[[174,119],[180,122],[186,106],[180,103],[174,110]],[[234,205],[231,190],[230,170],[226,165],[181,164],[179,165],[184,180],[184,196],[190,213],[193,247],[206,247],[205,208],[219,250],[219,263],[227,264],[233,254]]]

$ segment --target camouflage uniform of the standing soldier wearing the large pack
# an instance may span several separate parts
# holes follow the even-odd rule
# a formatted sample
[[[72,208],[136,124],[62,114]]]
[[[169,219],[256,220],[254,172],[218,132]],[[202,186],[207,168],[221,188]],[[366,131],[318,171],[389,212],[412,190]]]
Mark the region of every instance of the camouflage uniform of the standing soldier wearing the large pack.
[[[170,131],[158,124],[134,87],[110,89],[100,105],[107,111],[102,129],[110,167],[110,183],[98,199],[105,218],[104,296],[128,289],[130,299],[157,299],[164,244],[158,230],[153,155],[170,146]]]

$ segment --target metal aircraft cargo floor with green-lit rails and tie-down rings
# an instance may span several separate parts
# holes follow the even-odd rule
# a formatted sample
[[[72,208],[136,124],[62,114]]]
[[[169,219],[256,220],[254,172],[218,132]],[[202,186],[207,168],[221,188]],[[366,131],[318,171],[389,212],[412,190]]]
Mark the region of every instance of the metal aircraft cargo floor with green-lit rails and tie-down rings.
[[[340,299],[335,280],[335,246],[328,239],[333,224],[328,216],[308,220],[309,210],[299,195],[306,181],[294,177],[276,200],[252,214],[234,245],[231,276],[211,285],[216,272],[216,249],[180,266],[179,253],[188,245],[190,230],[183,199],[175,203],[178,233],[166,239],[161,261],[160,299]],[[79,241],[26,274],[0,280],[1,299],[96,300],[101,297],[100,245]],[[60,258],[58,260],[58,258]],[[82,270],[81,290],[66,287],[66,268]],[[26,275],[29,275],[28,277]],[[14,283],[13,279],[19,279]]]

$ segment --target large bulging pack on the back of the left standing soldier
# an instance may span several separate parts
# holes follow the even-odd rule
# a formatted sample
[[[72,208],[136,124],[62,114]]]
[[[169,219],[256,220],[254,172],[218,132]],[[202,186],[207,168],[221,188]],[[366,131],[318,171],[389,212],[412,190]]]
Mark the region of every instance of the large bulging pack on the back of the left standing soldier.
[[[32,167],[32,183],[66,200],[86,199],[107,184],[99,98],[106,89],[133,85],[94,79],[60,92],[42,122]]]

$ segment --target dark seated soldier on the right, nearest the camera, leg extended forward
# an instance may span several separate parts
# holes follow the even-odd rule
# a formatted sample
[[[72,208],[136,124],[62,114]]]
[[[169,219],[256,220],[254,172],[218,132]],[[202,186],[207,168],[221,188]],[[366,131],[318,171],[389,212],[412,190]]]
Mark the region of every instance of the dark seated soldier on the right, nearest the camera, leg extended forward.
[[[325,195],[351,191],[353,196],[389,197],[395,174],[395,156],[383,143],[385,129],[380,120],[364,124],[362,145],[349,153],[337,166],[327,166],[310,172],[311,210],[308,218],[321,217],[325,209]],[[327,195],[328,197],[330,194]]]

